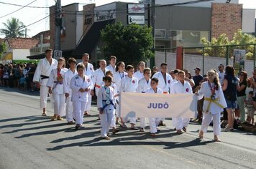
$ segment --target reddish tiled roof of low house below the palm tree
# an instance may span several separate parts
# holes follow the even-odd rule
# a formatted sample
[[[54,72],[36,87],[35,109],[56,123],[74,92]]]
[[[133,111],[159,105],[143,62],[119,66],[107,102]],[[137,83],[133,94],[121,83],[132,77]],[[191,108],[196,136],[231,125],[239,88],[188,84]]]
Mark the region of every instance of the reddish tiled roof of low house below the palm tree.
[[[6,41],[12,49],[32,49],[40,42],[39,39],[21,37],[9,38]]]

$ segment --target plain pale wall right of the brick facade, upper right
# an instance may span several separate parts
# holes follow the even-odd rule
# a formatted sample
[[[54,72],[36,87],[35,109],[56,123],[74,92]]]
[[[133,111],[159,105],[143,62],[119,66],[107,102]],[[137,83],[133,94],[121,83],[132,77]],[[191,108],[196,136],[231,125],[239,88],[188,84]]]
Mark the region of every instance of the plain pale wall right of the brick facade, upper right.
[[[255,32],[255,9],[242,9],[242,32]]]

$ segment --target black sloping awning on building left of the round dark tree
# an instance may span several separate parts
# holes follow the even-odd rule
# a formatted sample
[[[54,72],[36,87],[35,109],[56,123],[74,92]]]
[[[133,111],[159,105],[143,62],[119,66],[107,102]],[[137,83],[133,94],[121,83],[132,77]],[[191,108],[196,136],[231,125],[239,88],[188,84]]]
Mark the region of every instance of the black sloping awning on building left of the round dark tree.
[[[97,42],[99,42],[101,30],[105,29],[107,24],[113,24],[114,21],[115,19],[94,22],[81,42],[78,44],[78,47],[76,47],[75,51],[72,53],[72,57],[81,59],[82,54],[91,54],[93,49],[96,47]]]

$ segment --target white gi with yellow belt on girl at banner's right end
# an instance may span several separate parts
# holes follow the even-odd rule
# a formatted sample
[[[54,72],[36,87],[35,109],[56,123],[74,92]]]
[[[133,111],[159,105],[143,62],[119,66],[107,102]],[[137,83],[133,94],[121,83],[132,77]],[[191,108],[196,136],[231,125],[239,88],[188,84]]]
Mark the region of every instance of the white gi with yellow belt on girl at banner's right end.
[[[213,89],[214,87],[213,83],[211,83],[211,87]],[[209,82],[203,82],[201,84],[201,89],[198,91],[198,100],[201,100],[203,97],[204,97],[204,106],[203,106],[203,121],[201,125],[201,130],[204,133],[206,133],[211,120],[213,120],[214,135],[220,135],[221,134],[220,115],[223,109],[227,107],[227,103],[226,103],[224,94],[221,90],[221,86],[219,85],[219,90],[215,90],[215,100],[211,100],[211,88],[209,87]]]

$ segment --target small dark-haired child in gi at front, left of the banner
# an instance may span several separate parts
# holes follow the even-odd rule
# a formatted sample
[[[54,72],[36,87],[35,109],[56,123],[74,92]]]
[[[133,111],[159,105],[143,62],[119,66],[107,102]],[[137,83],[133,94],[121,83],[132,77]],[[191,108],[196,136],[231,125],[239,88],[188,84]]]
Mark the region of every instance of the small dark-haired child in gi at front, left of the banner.
[[[112,77],[106,76],[103,80],[105,84],[99,89],[97,107],[101,118],[101,137],[109,140],[109,127],[114,120],[116,99],[114,98],[114,89],[111,87]]]

